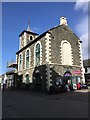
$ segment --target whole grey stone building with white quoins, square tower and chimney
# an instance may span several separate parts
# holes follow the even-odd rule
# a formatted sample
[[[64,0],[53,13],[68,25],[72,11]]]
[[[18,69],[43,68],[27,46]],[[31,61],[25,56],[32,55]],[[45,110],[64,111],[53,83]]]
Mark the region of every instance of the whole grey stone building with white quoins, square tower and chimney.
[[[28,26],[20,35],[16,53],[18,81],[31,89],[49,91],[58,81],[84,81],[81,41],[68,27],[67,19],[41,35]]]

